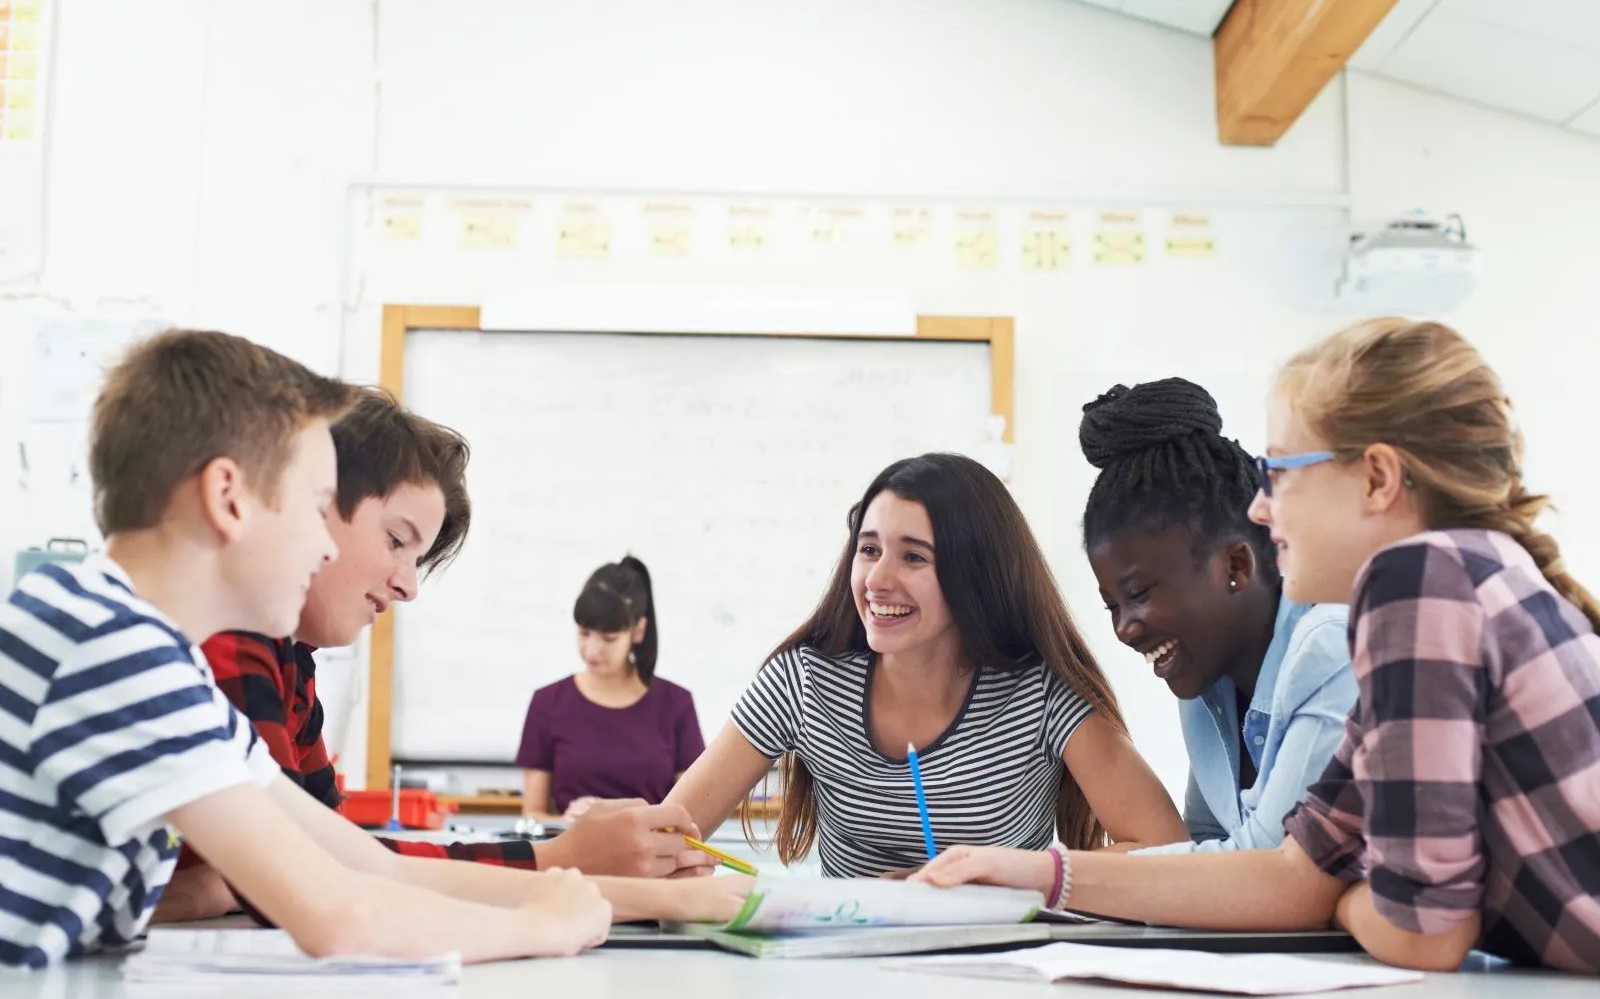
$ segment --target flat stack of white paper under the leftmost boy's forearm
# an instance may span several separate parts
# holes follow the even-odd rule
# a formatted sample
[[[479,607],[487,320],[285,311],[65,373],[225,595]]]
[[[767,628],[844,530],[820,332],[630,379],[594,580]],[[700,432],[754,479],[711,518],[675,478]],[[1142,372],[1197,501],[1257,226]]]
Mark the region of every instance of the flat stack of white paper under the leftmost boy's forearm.
[[[150,930],[144,949],[128,957],[130,983],[189,986],[282,981],[282,988],[394,993],[398,988],[461,981],[461,954],[422,961],[395,957],[307,957],[283,930]]]

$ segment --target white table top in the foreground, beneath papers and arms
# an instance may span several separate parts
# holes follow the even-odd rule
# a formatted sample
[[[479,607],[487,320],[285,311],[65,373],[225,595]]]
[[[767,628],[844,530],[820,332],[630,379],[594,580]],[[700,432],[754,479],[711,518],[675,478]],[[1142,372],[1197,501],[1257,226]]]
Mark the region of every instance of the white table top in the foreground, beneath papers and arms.
[[[1323,954],[1318,961],[1370,961],[1354,954]],[[0,972],[5,999],[155,999],[166,986],[130,986],[118,975],[120,957],[74,961],[40,973]],[[634,996],[696,996],[698,999],[1021,999],[1046,996],[1046,985],[947,978],[882,969],[883,959],[757,961],[694,949],[590,951],[563,961],[506,961],[466,969],[458,988],[429,989],[440,999],[530,999],[566,996],[613,999]],[[1197,999],[1197,993],[1128,989],[1072,983],[1074,999]],[[154,989],[154,991],[152,991]],[[349,993],[346,993],[349,994]],[[366,994],[389,994],[366,993]],[[1510,969],[1474,956],[1453,975],[1429,975],[1416,985],[1338,993],[1341,999],[1594,999],[1595,981],[1555,972]],[[229,988],[226,999],[315,999],[288,983]],[[1331,996],[1331,993],[1330,993]]]

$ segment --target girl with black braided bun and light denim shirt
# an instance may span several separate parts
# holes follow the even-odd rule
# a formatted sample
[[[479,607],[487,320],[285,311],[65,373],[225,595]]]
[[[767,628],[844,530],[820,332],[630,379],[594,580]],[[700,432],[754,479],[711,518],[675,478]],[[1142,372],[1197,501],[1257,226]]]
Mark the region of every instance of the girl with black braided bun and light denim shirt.
[[[1275,847],[1355,703],[1346,608],[1282,596],[1248,517],[1254,461],[1195,383],[1112,387],[1083,407],[1078,442],[1101,469],[1083,512],[1101,600],[1179,698],[1189,841],[1155,852]]]

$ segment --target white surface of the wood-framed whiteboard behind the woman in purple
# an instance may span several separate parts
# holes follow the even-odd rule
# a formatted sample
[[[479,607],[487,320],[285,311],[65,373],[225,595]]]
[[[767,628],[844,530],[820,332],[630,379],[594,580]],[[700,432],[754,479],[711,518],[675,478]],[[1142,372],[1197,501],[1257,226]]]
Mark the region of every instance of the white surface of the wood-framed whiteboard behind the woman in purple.
[[[656,674],[709,741],[822,596],[872,477],[982,458],[989,344],[416,330],[405,402],[470,442],[472,528],[395,608],[394,756],[504,764],[533,692],[581,666],[584,580],[626,552],[654,583]]]

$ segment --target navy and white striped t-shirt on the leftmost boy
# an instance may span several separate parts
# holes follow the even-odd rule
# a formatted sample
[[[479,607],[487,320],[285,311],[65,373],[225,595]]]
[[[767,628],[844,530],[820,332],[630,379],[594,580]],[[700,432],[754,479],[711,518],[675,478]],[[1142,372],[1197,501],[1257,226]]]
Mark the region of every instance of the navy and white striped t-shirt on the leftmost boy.
[[[163,815],[277,773],[120,565],[19,580],[0,604],[0,965],[133,941],[178,855]]]

